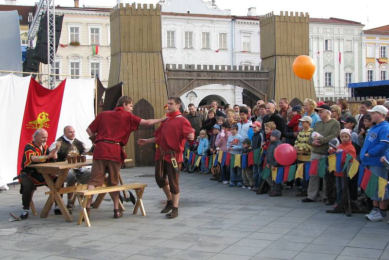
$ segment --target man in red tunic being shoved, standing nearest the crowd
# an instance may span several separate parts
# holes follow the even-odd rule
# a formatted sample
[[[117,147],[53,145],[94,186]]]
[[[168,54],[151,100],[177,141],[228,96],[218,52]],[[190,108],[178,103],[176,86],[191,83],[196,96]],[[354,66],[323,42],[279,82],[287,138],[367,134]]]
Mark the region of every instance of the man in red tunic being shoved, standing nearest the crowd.
[[[193,142],[195,140],[195,132],[191,123],[179,111],[181,103],[179,97],[169,97],[168,118],[155,131],[155,137],[138,140],[138,144],[141,146],[151,143],[158,145],[155,153],[155,179],[167,198],[166,206],[161,213],[172,211],[166,214],[166,217],[171,219],[178,216],[178,177],[183,161],[185,141]]]

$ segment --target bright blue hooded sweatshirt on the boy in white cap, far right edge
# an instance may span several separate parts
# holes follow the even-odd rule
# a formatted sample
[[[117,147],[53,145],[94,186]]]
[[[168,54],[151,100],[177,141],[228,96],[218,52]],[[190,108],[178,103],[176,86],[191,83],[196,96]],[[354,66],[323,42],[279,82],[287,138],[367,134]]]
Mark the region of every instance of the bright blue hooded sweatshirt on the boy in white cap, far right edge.
[[[384,140],[388,140],[388,134],[388,121],[383,121],[369,129],[366,135],[365,143],[363,144],[360,152],[362,165],[383,167],[383,164],[380,162],[380,158],[387,154],[389,143]],[[369,153],[370,156],[365,156],[366,153]]]

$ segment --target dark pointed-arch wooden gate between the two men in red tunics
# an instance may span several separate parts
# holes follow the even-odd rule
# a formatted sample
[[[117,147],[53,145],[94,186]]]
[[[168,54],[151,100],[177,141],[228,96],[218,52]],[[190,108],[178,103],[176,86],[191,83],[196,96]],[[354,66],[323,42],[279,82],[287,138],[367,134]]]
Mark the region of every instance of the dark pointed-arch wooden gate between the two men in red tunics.
[[[154,108],[144,98],[135,104],[133,114],[142,119],[154,119]],[[139,126],[138,131],[134,131],[134,147],[135,147],[135,165],[136,166],[154,166],[155,165],[155,144],[139,146],[138,138],[151,138],[155,127]]]

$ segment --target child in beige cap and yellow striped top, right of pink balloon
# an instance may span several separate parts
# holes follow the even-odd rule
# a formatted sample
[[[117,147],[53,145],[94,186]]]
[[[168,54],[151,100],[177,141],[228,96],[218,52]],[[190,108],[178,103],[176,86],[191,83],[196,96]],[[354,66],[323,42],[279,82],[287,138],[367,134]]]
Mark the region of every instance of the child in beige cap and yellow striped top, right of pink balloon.
[[[297,164],[309,162],[312,149],[312,147],[309,145],[309,137],[312,133],[312,118],[310,116],[304,115],[301,119],[299,119],[299,121],[301,122],[302,130],[298,133],[294,145],[294,148],[297,151]],[[301,189],[299,189],[299,191],[296,193],[296,196],[306,197],[308,190],[308,181],[305,180],[305,174],[302,175],[300,183]]]

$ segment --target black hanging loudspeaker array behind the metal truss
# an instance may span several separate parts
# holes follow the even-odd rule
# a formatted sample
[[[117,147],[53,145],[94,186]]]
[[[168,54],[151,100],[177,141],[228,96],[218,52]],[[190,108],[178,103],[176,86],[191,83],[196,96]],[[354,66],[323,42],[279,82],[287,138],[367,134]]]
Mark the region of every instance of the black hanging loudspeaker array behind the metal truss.
[[[62,21],[64,16],[55,16],[55,52],[58,49],[59,39],[61,37]],[[39,24],[39,30],[37,33],[37,39],[35,44],[35,59],[42,62],[43,64],[48,63],[47,58],[47,18],[41,19]]]

